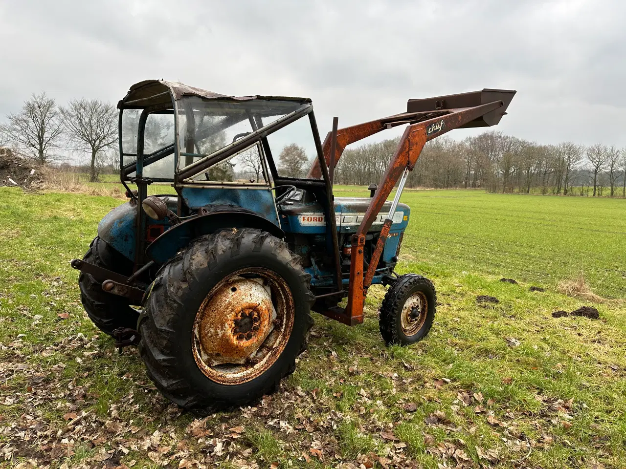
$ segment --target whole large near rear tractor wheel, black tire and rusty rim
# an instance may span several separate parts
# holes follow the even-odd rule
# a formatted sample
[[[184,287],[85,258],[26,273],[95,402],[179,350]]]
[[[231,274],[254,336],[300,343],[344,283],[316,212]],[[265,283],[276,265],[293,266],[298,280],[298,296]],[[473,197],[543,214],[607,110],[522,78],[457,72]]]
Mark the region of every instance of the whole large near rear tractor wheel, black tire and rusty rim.
[[[140,355],[185,408],[240,406],[277,390],[305,350],[310,276],[259,229],[202,236],[163,266],[145,301]]]

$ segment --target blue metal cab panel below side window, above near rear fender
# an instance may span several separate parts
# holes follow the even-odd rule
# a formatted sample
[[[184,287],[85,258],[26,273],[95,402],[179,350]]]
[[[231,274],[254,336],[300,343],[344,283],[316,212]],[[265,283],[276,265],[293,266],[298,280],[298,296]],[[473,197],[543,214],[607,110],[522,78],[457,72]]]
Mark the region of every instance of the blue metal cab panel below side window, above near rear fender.
[[[274,194],[270,188],[247,189],[242,187],[188,188],[182,189],[185,203],[198,209],[208,204],[230,204],[247,208],[268,219],[277,226],[278,213],[274,204]]]

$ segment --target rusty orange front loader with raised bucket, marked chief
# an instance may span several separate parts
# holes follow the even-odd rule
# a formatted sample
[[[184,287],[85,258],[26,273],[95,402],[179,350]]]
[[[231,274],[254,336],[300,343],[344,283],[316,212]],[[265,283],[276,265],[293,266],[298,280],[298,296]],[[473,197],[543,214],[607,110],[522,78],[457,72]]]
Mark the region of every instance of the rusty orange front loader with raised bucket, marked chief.
[[[348,288],[348,301],[344,311],[328,311],[329,316],[349,325],[363,322],[363,305],[367,288],[371,284],[376,266],[380,260],[382,250],[391,228],[393,214],[402,194],[404,183],[409,171],[412,171],[418,161],[419,154],[427,141],[451,131],[452,129],[492,126],[500,122],[506,114],[515,91],[504,89],[483,89],[473,93],[451,94],[427,99],[409,99],[407,112],[396,114],[387,118],[378,119],[356,126],[339,129],[336,135],[333,132],[326,136],[323,144],[326,164],[334,166],[341,158],[341,154],[347,145],[359,141],[367,136],[378,133],[399,125],[409,124],[396,153],[394,153],[381,182],[376,189],[366,214],[352,235],[352,258],[350,266],[350,281]],[[331,142],[335,154],[331,155]],[[334,156],[334,158],[331,158]],[[316,162],[309,171],[309,177],[319,178],[321,169]],[[398,182],[399,181],[399,182]],[[389,215],[382,225],[376,249],[372,254],[367,271],[363,271],[363,251],[365,235],[387,200],[394,186],[398,183],[398,190],[391,204]]]

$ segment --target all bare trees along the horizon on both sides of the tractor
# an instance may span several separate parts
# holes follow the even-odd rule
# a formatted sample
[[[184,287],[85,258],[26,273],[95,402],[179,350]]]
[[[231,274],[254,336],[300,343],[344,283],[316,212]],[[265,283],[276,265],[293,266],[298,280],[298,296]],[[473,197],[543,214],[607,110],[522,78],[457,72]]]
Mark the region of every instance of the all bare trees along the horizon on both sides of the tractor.
[[[157,127],[161,138],[162,126]],[[146,134],[150,134],[147,127]],[[336,166],[335,182],[378,183],[398,143],[399,138],[394,138],[347,148]],[[0,124],[0,146],[13,146],[41,165],[53,161],[61,146],[85,151],[91,157],[91,181],[96,181],[101,166],[117,168],[117,144],[118,111],[98,99],[73,99],[58,106],[46,93],[33,94],[18,113],[8,114],[6,123]],[[245,158],[242,163],[248,176],[258,180],[260,165]],[[279,154],[285,176],[304,176],[309,163],[304,149],[295,144]],[[443,136],[426,144],[407,186],[624,197],[626,148],[600,143],[543,145],[499,131],[462,141]]]

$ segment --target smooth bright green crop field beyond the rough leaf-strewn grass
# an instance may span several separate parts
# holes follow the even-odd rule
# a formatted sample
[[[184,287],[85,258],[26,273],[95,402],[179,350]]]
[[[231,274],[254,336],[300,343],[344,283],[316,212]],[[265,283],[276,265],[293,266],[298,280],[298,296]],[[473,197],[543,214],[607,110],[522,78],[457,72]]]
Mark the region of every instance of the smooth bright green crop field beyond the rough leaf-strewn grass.
[[[626,296],[625,199],[408,189],[401,201],[411,207],[409,262],[551,287],[584,272],[598,295]]]

